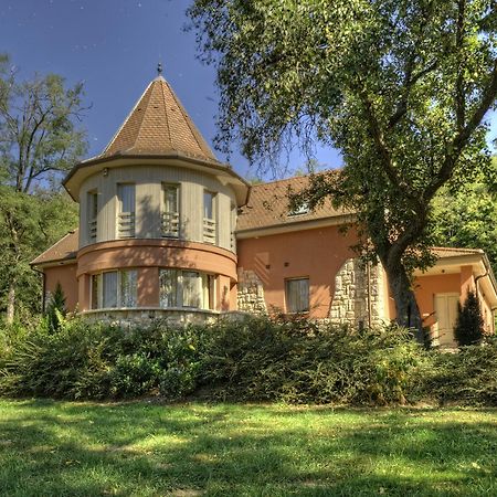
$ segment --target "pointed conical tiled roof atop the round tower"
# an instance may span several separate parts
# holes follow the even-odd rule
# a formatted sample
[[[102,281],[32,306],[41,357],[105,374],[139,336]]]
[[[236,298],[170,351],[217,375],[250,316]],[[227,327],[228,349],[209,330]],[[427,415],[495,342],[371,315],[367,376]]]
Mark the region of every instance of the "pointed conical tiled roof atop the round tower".
[[[168,82],[158,76],[99,157],[170,152],[216,161]]]

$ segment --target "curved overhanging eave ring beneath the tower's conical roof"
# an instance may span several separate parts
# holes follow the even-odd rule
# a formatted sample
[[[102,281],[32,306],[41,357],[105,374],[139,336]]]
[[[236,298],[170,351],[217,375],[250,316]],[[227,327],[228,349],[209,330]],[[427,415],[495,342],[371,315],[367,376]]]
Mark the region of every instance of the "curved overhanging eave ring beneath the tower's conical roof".
[[[80,200],[80,189],[91,176],[104,172],[105,169],[126,166],[173,166],[198,170],[214,176],[221,184],[230,186],[236,197],[237,207],[248,201],[250,183],[225,163],[194,158],[186,154],[171,151],[166,155],[115,155],[110,157],[95,157],[75,166],[62,184],[76,202]]]

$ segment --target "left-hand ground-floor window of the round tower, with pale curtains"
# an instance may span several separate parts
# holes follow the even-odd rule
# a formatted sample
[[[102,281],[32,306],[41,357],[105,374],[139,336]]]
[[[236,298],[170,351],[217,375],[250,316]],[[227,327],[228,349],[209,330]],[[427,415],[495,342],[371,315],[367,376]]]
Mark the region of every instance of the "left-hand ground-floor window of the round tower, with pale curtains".
[[[92,275],[92,309],[137,307],[136,269]]]

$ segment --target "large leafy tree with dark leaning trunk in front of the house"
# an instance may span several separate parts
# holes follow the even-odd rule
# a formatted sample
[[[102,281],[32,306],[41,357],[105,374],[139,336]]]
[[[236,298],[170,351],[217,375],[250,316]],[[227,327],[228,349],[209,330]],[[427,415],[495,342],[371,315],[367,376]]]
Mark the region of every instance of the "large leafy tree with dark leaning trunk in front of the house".
[[[218,147],[263,162],[315,140],[341,150],[293,201],[356,212],[358,251],[385,268],[396,319],[422,322],[411,287],[433,263],[432,200],[489,166],[497,95],[491,0],[197,0],[189,9],[220,87]],[[202,55],[203,54],[203,55]]]

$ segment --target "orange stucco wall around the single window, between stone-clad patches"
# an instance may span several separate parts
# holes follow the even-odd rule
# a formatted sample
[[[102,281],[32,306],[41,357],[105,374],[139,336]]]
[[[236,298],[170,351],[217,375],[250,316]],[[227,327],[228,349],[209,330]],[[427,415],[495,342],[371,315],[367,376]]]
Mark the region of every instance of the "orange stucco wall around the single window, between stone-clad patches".
[[[335,294],[335,276],[353,252],[357,234],[338,226],[237,241],[239,267],[253,271],[264,286],[268,308],[285,311],[285,279],[308,277],[310,316],[328,317]]]

